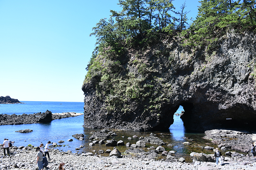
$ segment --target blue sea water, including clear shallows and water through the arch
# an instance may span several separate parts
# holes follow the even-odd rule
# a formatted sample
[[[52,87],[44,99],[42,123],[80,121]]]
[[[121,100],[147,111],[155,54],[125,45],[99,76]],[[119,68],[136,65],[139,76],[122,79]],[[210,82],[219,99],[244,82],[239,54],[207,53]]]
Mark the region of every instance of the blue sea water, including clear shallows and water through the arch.
[[[46,110],[51,111],[52,113],[63,113],[63,112],[84,112],[84,103],[83,102],[49,102],[49,101],[21,101],[25,104],[1,104],[0,105],[0,114],[16,114],[21,115],[33,114],[38,112],[45,112]],[[177,110],[176,113],[180,114],[183,110],[183,107]],[[183,126],[183,122],[180,119],[180,116],[173,115],[174,122],[170,126],[170,132],[135,132],[135,131],[125,131],[113,129],[116,132],[117,136],[110,137],[115,138],[117,141],[123,140],[124,143],[130,142],[135,144],[137,140],[128,140],[128,137],[133,135],[137,136],[149,136],[150,133],[154,133],[157,137],[161,138],[167,144],[172,144],[173,147],[165,147],[167,151],[175,151],[175,156],[177,158],[184,157],[186,161],[191,161],[189,154],[191,152],[204,152],[202,146],[205,143],[211,143],[205,139],[202,139],[204,136],[203,133],[187,133],[186,129]],[[92,142],[89,140],[89,137],[92,135],[91,132],[98,131],[100,129],[89,129],[82,127],[84,123],[84,116],[69,117],[63,119],[53,120],[49,123],[37,123],[37,124],[22,124],[22,125],[2,125],[0,126],[0,139],[8,138],[11,141],[15,141],[14,146],[27,146],[32,144],[33,146],[39,146],[41,143],[45,144],[48,141],[56,142],[60,144],[59,147],[53,147],[54,149],[59,149],[60,151],[72,151],[74,152],[92,152],[93,150],[104,150],[113,149],[113,147],[106,147],[106,145],[96,144],[94,146],[89,146],[89,143]],[[15,132],[22,129],[32,129],[33,132],[30,133],[19,133]],[[167,129],[168,130],[168,129]],[[84,134],[84,140],[80,141],[72,135],[75,134]],[[186,142],[187,139],[193,139],[190,141],[191,145],[184,145],[183,142]],[[72,142],[68,142],[68,139],[73,139]],[[109,139],[109,140],[110,140]],[[58,141],[63,140],[64,143],[58,143]],[[83,145],[84,147],[80,150],[76,150],[79,146]],[[147,144],[147,147],[152,145]],[[157,145],[154,145],[157,147]],[[215,145],[212,144],[214,147]],[[124,152],[128,149],[126,146],[117,147],[121,152]],[[145,149],[146,149],[145,148]],[[210,152],[209,152],[210,153]],[[104,155],[104,154],[103,154]],[[108,156],[107,154],[104,156]]]

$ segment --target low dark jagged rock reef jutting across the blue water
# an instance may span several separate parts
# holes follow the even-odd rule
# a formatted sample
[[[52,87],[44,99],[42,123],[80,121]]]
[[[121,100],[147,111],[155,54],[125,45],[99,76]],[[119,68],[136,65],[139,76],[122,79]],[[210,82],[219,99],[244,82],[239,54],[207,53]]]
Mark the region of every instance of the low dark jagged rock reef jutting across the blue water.
[[[22,115],[7,115],[1,114],[0,115],[0,125],[18,125],[18,124],[32,124],[32,123],[46,123],[51,122],[55,119],[62,119],[67,117],[74,117],[82,114],[76,113],[61,113],[61,114],[52,114],[51,111],[46,110],[46,112],[39,112],[34,114],[22,114]]]

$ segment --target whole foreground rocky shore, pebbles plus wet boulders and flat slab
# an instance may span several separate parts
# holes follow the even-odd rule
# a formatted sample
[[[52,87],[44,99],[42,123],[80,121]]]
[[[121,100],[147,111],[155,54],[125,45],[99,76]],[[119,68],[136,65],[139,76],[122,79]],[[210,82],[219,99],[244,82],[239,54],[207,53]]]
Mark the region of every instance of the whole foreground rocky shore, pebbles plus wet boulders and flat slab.
[[[209,138],[213,142],[220,137],[228,137],[227,135],[233,134],[236,139],[236,145],[242,148],[247,144],[246,142],[255,142],[255,134],[248,134],[245,132],[238,132],[233,130],[211,130],[206,131],[206,136],[204,138]],[[238,135],[237,135],[238,134]],[[57,170],[58,165],[61,162],[66,164],[66,170],[75,169],[179,169],[179,170],[226,170],[226,169],[256,169],[256,160],[253,158],[251,152],[238,153],[230,151],[233,146],[232,140],[226,141],[226,145],[220,148],[222,155],[224,156],[223,165],[216,166],[213,158],[213,154],[196,153],[191,152],[190,158],[193,162],[187,162],[184,158],[179,157],[174,151],[167,152],[164,147],[166,144],[154,134],[150,134],[148,137],[137,137],[136,135],[130,137],[133,141],[137,141],[136,144],[130,144],[130,142],[124,144],[124,142],[116,141],[115,139],[108,140],[109,136],[115,136],[116,133],[108,129],[103,129],[100,132],[93,132],[90,137],[91,143],[89,148],[91,151],[87,152],[83,150],[84,145],[76,148],[75,153],[68,150],[63,152],[57,149],[59,144],[52,143],[50,148],[51,160],[49,161],[49,169]],[[83,134],[76,134],[73,137],[84,140]],[[82,138],[81,138],[82,137]],[[211,137],[211,138],[210,138]],[[69,139],[72,141],[72,139]],[[68,141],[69,141],[68,140]],[[224,140],[223,140],[224,141]],[[64,141],[60,140],[58,143]],[[230,143],[228,143],[230,142]],[[158,144],[158,147],[151,146],[146,148],[146,143]],[[248,143],[249,147],[252,143]],[[164,146],[162,146],[162,145]],[[223,145],[220,142],[220,145]],[[3,156],[2,144],[0,144],[0,170],[6,169],[35,169],[37,164],[35,163],[35,146],[30,144],[26,147],[24,146],[13,146],[10,148],[12,152],[11,156]],[[106,149],[96,150],[94,146],[106,145]],[[119,146],[126,145],[126,150],[120,152],[118,150]],[[228,147],[228,146],[231,147]],[[108,148],[107,146],[111,146]],[[72,147],[72,146],[68,146]],[[74,146],[73,146],[74,147]],[[87,148],[88,149],[88,148]],[[213,147],[206,146],[205,150],[214,150]],[[233,148],[239,149],[239,147]],[[81,152],[82,151],[82,152]]]

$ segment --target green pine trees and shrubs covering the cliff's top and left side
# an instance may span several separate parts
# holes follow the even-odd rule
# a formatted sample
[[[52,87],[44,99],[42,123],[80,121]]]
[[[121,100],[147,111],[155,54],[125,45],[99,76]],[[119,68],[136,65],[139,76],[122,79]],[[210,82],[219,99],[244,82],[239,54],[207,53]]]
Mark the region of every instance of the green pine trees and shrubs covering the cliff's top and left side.
[[[186,4],[175,11],[176,18],[170,14],[175,10],[170,0],[120,0],[123,10],[111,10],[109,19],[103,18],[93,27],[97,47],[87,65],[84,85],[93,84],[106,115],[139,111],[158,119],[164,103],[174,98],[175,80],[161,75],[174,72],[179,63],[185,63],[188,74],[202,72],[229,30],[255,31],[255,0],[200,3],[196,19],[186,30]],[[184,54],[180,54],[182,61],[174,63],[173,49],[177,47]],[[191,69],[193,60],[202,61],[200,69]],[[189,81],[188,75],[184,77],[182,85]]]

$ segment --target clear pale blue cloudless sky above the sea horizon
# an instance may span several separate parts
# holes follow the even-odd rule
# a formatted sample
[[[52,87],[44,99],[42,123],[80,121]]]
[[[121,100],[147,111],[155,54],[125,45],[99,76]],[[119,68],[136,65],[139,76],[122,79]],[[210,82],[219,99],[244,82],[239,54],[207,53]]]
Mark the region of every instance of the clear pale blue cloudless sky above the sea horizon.
[[[0,96],[20,101],[79,101],[95,48],[92,27],[118,0],[0,0]],[[174,0],[176,11],[184,1]],[[187,0],[196,18],[197,0]]]

